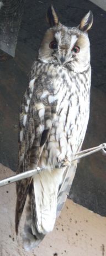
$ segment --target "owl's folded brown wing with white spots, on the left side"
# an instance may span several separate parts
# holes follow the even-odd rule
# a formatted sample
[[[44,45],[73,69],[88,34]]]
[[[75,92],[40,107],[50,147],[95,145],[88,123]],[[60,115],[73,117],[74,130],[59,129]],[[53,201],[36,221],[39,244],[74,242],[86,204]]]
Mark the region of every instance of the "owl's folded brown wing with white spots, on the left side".
[[[36,84],[36,78],[30,81],[20,107],[17,173],[31,170],[37,166],[52,125],[51,106],[41,103],[39,96],[41,92],[36,92]],[[15,229],[17,233],[31,180],[30,177],[18,181],[16,185]]]

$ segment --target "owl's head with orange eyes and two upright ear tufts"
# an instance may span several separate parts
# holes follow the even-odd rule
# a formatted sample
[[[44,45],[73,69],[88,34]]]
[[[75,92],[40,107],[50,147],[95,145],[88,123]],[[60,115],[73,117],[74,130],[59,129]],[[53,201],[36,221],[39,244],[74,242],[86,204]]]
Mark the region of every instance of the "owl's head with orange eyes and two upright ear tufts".
[[[62,65],[74,71],[83,71],[90,62],[88,30],[93,14],[89,11],[77,27],[66,27],[59,22],[54,8],[47,12],[47,29],[40,45],[38,59],[44,63]]]

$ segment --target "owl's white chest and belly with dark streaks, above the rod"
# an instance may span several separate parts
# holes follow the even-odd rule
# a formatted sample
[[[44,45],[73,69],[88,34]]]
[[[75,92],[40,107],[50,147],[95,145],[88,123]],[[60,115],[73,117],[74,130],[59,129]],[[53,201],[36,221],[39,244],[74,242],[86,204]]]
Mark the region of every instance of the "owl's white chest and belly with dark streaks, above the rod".
[[[50,136],[41,156],[41,165],[55,165],[57,156],[70,159],[82,145],[89,117],[89,89],[91,73],[74,74],[65,68],[49,69],[52,92],[49,104],[55,102],[56,115],[52,122]],[[87,79],[89,75],[89,79]],[[43,95],[45,96],[45,90]]]

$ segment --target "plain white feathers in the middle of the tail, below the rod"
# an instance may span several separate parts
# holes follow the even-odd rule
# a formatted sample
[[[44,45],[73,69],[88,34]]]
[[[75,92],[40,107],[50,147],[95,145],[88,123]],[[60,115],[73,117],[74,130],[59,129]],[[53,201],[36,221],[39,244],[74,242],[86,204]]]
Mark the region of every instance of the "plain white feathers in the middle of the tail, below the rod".
[[[63,170],[55,169],[33,177],[36,220],[39,233],[49,233],[56,220],[57,193]]]

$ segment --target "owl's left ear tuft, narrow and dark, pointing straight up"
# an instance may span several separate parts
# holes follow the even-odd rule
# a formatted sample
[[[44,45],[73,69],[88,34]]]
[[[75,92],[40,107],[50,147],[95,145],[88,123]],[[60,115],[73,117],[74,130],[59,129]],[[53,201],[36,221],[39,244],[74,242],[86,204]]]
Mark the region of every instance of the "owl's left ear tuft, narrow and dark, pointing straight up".
[[[50,27],[57,26],[59,24],[59,19],[54,10],[53,6],[50,6],[47,11],[47,22],[50,24]]]

